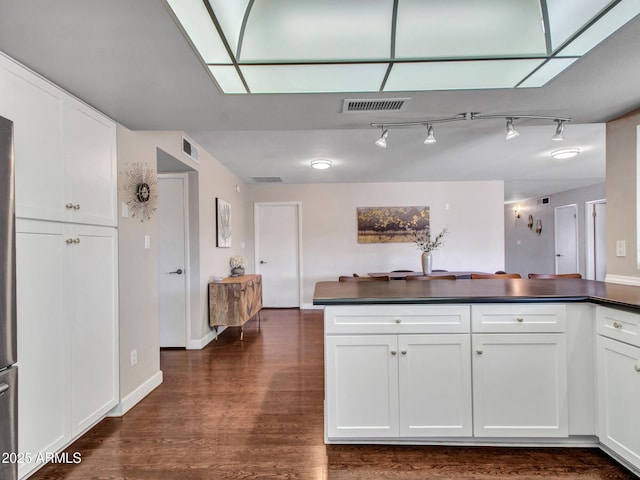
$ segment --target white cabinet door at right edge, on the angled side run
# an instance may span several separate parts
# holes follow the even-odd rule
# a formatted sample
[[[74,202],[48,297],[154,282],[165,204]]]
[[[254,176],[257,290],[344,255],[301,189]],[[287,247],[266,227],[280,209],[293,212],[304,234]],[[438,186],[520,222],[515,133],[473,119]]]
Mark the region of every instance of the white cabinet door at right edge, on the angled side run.
[[[640,468],[640,348],[598,336],[600,442]]]

